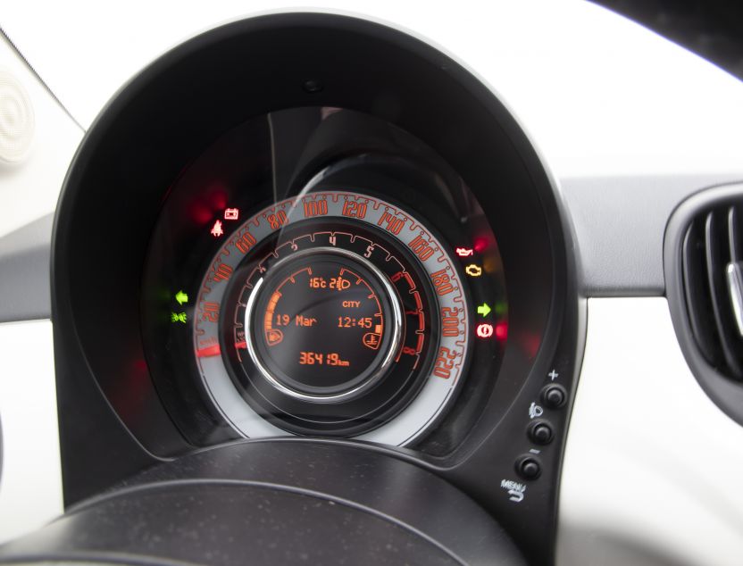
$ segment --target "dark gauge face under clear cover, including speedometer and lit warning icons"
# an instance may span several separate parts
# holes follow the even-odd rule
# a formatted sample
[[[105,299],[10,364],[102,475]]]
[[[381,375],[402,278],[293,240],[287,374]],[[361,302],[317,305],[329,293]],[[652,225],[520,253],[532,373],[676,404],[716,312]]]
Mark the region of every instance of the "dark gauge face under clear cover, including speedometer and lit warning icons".
[[[420,140],[349,110],[274,112],[214,141],[163,201],[143,288],[147,365],[195,445],[446,454],[504,360],[505,273],[478,199]]]

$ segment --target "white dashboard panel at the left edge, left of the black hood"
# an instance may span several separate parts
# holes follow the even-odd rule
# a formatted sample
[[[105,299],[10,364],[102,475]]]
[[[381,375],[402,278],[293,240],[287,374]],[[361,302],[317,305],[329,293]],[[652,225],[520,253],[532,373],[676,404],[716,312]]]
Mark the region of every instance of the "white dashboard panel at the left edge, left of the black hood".
[[[49,320],[0,324],[0,543],[62,513],[62,471]]]

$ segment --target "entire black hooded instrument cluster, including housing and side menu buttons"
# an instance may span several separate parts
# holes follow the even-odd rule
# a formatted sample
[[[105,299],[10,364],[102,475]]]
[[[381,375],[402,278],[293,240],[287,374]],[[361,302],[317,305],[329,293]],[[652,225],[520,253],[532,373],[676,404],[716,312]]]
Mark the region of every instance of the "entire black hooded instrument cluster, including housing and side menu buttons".
[[[342,446],[445,479],[545,562],[574,255],[518,122],[420,39],[327,13],[195,37],[104,109],[57,207],[65,502],[223,445]]]

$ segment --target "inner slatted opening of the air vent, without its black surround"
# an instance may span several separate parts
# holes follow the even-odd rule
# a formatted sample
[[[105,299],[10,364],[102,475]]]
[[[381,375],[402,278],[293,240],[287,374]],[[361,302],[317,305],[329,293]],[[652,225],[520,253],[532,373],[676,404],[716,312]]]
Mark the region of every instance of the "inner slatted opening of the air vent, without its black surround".
[[[701,212],[681,251],[691,332],[706,362],[732,379],[743,379],[742,218],[735,205]]]

